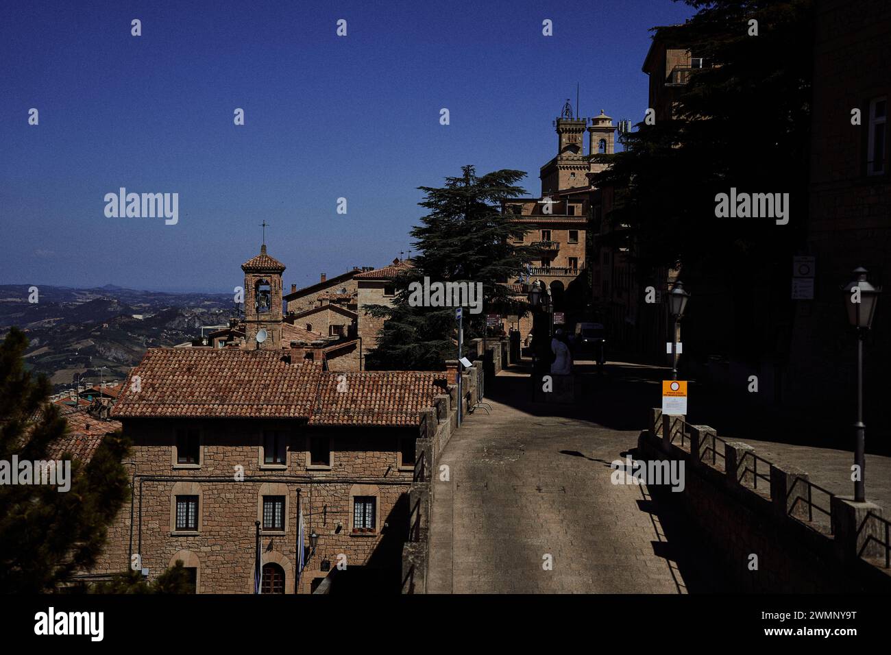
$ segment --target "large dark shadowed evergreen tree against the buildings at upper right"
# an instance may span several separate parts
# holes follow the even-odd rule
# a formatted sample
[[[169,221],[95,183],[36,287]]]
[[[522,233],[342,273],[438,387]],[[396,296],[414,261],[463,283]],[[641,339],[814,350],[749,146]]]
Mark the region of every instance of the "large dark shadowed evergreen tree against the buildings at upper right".
[[[689,48],[707,68],[691,72],[675,119],[639,124],[594,184],[627,188],[608,218],[628,226],[644,267],[771,266],[801,238],[808,205],[813,3],[687,4],[699,12],[683,25],[656,29],[658,37]],[[752,19],[758,36],[748,36]],[[715,194],[732,186],[789,192],[789,225],[715,218]]]

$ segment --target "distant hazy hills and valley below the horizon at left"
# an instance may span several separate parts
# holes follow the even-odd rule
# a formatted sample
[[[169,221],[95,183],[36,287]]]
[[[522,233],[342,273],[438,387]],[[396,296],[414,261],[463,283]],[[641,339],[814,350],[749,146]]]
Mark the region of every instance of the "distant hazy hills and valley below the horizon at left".
[[[12,325],[24,330],[30,341],[26,363],[46,373],[57,391],[67,389],[75,374],[91,383],[101,374],[106,381],[122,380],[146,348],[190,341],[202,325],[224,324],[234,312],[227,293],[40,285],[37,303],[30,303],[29,286],[0,284],[0,339]]]

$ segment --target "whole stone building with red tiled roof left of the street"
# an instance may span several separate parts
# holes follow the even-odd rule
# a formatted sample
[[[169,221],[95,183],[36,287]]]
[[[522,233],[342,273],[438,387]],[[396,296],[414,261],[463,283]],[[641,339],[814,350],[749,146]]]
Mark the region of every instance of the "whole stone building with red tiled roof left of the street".
[[[94,574],[138,555],[151,580],[181,560],[198,593],[253,593],[259,521],[263,593],[308,593],[332,571],[338,585],[398,592],[420,413],[446,391],[445,373],[153,348],[124,389],[113,415],[134,441],[133,503]]]

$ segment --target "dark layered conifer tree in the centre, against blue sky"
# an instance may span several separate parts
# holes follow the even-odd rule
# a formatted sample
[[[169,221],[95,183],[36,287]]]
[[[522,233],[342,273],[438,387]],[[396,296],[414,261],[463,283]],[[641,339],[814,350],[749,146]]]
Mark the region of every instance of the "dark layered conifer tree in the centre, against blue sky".
[[[515,282],[535,254],[529,246],[512,243],[529,227],[501,212],[503,201],[525,194],[516,185],[524,176],[510,169],[477,176],[472,166],[464,166],[462,176],[447,177],[442,187],[420,187],[426,193],[420,205],[429,213],[412,236],[421,254],[396,277],[393,307],[362,307],[388,319],[366,359],[369,369],[441,370],[446,359],[454,359],[454,307],[408,304],[409,285],[425,276],[430,282],[482,282],[483,312],[471,315],[465,308],[465,340],[482,334],[486,313],[526,311],[526,303],[511,299],[508,288],[498,283]]]

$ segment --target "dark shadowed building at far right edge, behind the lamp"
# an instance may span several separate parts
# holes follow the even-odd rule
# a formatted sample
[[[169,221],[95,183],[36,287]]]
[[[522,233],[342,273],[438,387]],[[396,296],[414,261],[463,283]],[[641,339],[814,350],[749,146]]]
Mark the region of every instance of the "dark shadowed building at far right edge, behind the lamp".
[[[887,389],[884,364],[891,359],[887,2],[863,0],[852,11],[842,0],[819,0],[813,61],[810,217],[806,250],[801,252],[813,257],[813,266],[809,278],[798,278],[804,293],[795,300],[786,392],[789,401],[838,415],[839,425],[854,421],[856,337],[840,289],[854,280],[854,268],[863,266],[873,285],[885,286],[864,344],[869,436],[876,434],[870,426],[878,428],[877,418],[870,416],[879,416]],[[860,113],[857,125],[854,110]],[[790,261],[790,286],[793,275],[801,271],[793,270]]]

